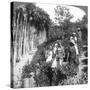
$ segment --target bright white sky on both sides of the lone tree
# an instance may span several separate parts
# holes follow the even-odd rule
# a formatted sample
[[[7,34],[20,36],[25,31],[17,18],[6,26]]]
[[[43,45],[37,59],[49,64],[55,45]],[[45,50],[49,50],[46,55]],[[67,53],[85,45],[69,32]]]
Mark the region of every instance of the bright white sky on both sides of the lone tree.
[[[55,22],[55,11],[54,8],[57,6],[56,4],[40,4],[37,3],[36,6],[43,8],[49,15],[50,18]],[[71,22],[75,22],[78,19],[82,20],[82,17],[86,14],[82,9],[69,5],[61,5],[69,8],[70,13],[74,16],[71,19]]]

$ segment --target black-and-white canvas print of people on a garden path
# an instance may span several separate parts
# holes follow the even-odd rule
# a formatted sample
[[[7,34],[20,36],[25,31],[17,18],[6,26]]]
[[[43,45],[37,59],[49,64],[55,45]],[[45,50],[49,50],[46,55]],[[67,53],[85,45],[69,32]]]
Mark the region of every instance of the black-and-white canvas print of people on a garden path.
[[[10,3],[11,88],[88,84],[88,6]]]

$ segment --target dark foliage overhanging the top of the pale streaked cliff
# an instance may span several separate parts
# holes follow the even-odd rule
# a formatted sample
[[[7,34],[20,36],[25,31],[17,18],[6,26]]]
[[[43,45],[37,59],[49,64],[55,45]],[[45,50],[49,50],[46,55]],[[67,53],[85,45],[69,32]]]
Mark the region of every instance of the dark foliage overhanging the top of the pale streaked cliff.
[[[49,29],[49,15],[35,4],[27,4],[24,7],[18,7],[14,14],[15,25],[21,24],[24,27],[33,25],[37,30]]]

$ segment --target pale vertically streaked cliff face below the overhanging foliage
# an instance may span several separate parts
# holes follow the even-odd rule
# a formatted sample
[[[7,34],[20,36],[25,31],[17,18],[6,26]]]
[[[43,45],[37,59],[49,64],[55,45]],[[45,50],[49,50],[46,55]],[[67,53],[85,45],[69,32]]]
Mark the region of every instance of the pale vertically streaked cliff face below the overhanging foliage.
[[[17,39],[14,41],[14,81],[18,86],[19,79],[21,79],[22,67],[25,64],[30,64],[37,46],[46,41],[46,31],[43,30],[37,34],[37,30],[34,26],[31,26],[29,30],[22,30],[16,32]],[[20,83],[19,83],[20,84]]]

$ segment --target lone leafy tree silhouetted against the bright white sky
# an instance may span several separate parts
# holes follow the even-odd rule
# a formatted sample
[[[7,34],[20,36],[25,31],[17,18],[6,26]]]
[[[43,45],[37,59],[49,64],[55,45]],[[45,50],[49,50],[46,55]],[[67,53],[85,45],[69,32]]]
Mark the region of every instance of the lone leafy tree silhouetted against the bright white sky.
[[[63,28],[67,27],[70,20],[73,18],[73,15],[71,15],[69,9],[60,5],[55,8],[55,15],[56,22]]]

